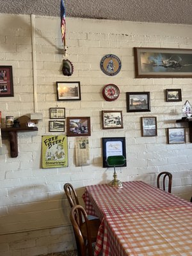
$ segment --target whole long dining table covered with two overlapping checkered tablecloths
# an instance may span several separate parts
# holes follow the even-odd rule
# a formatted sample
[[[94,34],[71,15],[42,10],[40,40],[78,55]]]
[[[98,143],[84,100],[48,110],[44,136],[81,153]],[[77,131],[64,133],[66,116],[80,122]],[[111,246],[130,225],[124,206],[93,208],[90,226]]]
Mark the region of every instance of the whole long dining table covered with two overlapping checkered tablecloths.
[[[87,214],[101,220],[94,256],[192,255],[192,204],[141,180],[86,186]]]

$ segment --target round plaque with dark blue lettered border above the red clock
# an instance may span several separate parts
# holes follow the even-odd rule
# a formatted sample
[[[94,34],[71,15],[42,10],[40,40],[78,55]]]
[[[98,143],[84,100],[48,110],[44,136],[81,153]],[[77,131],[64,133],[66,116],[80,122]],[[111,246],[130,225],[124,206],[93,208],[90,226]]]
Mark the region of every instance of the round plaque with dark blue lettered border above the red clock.
[[[100,61],[100,69],[108,76],[115,76],[120,72],[122,63],[114,54],[105,55]]]

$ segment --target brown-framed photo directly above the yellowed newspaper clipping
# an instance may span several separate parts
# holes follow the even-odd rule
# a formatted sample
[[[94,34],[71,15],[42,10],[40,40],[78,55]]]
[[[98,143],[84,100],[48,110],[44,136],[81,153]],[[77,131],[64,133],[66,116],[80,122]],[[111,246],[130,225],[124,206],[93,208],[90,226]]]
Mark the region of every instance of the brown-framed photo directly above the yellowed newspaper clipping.
[[[67,136],[90,136],[90,117],[67,117]]]

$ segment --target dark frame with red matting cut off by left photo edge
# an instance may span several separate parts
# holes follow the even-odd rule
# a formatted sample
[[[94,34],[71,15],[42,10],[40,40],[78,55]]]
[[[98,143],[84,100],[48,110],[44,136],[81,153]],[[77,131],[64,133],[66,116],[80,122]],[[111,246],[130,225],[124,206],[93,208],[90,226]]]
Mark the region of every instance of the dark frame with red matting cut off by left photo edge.
[[[0,66],[0,97],[13,97],[12,66]]]

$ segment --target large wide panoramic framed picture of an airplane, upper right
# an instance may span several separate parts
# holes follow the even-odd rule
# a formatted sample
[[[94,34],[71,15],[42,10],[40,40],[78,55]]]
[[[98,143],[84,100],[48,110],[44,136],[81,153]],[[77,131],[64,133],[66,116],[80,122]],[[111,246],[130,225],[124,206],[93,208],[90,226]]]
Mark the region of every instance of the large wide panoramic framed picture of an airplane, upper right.
[[[135,75],[192,77],[192,49],[134,47]]]

